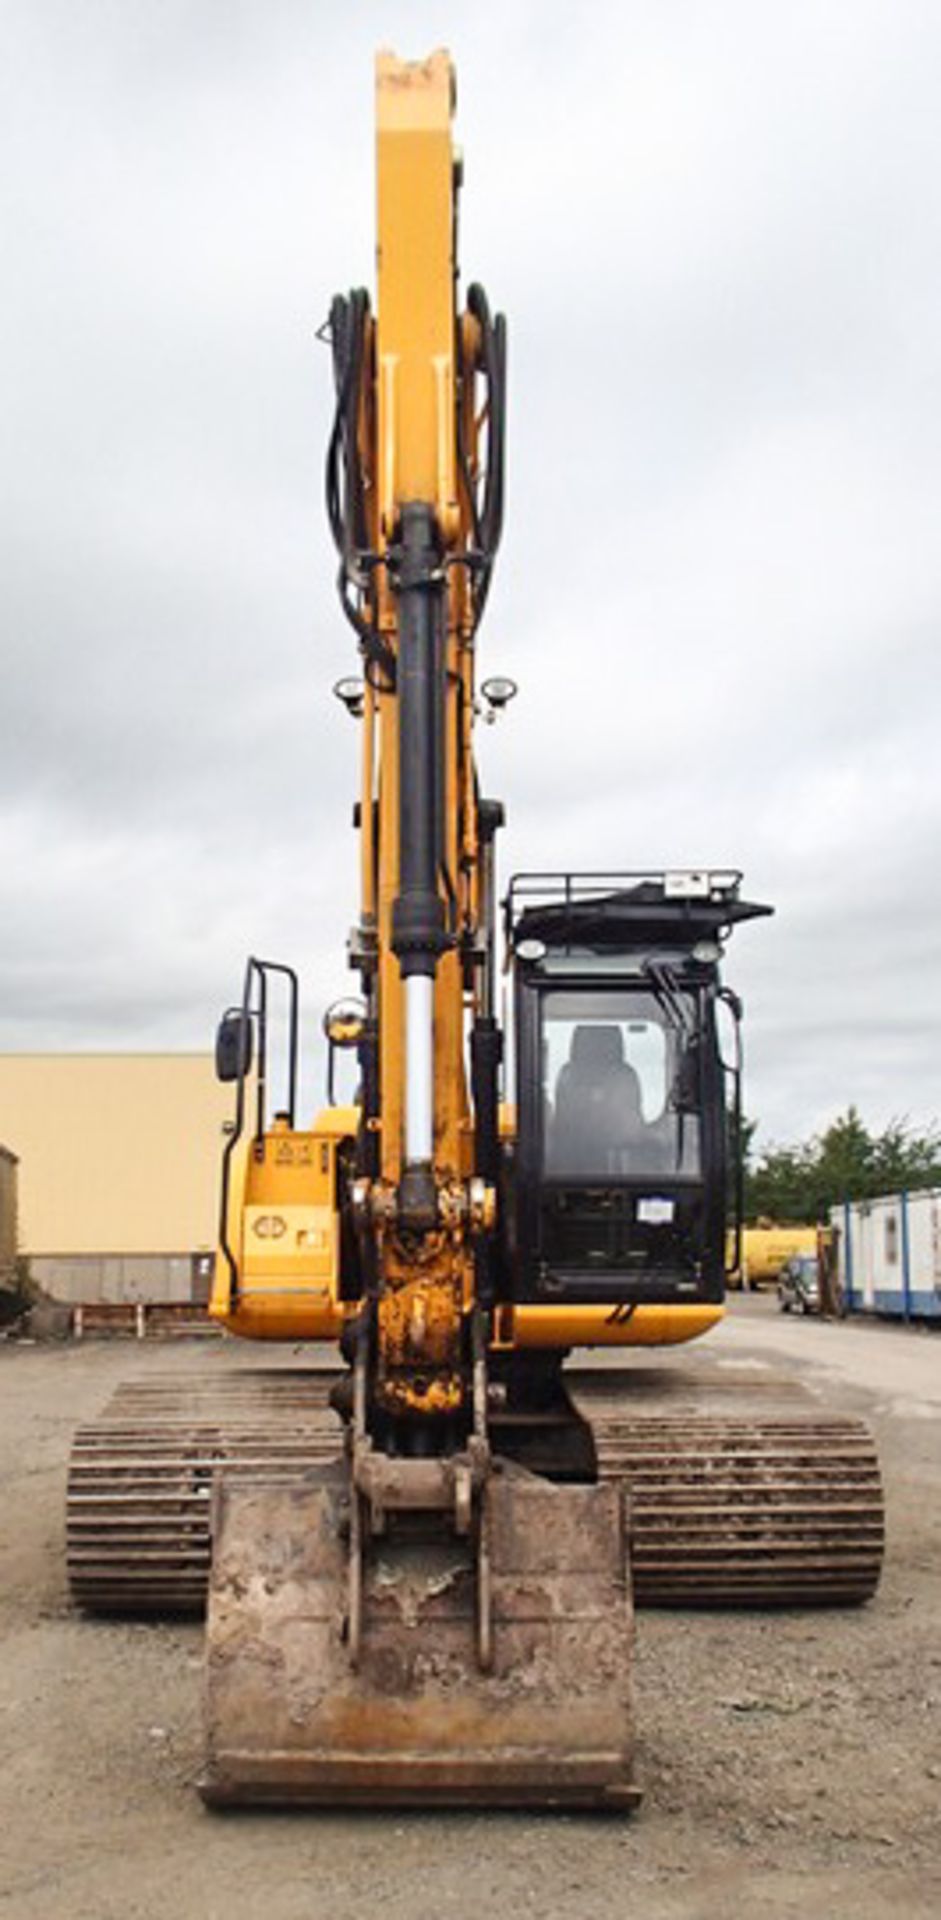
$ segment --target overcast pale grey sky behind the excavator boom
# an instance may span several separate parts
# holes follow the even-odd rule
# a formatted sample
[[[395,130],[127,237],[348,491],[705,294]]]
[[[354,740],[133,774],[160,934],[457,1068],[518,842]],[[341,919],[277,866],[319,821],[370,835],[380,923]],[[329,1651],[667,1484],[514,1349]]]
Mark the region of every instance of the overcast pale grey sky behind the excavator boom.
[[[328,298],[373,52],[511,324],[503,874],[734,864],[747,1108],[941,1116],[941,8],[2,0],[0,1046],[351,985]],[[313,1044],[313,1041],[311,1041]]]

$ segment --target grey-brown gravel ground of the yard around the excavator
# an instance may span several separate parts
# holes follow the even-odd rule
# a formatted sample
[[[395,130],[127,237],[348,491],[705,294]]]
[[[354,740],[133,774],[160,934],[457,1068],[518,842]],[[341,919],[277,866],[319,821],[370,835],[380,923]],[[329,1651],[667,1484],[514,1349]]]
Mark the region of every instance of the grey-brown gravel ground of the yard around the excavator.
[[[639,1617],[632,1818],[204,1811],[202,1630],[69,1609],[65,1457],[119,1379],[244,1363],[207,1342],[0,1346],[4,1920],[941,1910],[941,1334],[785,1321],[759,1296],[682,1357],[797,1373],[866,1413],[889,1557],[857,1613]]]

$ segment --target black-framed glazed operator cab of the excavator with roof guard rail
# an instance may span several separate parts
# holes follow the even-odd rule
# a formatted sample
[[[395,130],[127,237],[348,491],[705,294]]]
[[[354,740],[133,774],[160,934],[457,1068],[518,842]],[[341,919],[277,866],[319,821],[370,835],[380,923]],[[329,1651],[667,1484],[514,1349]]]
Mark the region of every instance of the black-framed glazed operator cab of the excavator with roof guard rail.
[[[718,962],[732,925],[770,912],[741,900],[739,883],[728,872],[513,879],[515,1300],[722,1300],[741,1075],[739,1004]]]

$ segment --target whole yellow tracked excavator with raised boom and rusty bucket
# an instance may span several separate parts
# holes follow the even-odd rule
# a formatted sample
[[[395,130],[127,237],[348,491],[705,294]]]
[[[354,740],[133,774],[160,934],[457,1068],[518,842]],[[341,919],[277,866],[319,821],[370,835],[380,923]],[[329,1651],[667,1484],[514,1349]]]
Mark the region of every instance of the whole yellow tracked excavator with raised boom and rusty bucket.
[[[478,689],[474,662],[507,342],[480,286],[457,294],[453,106],[444,52],[378,56],[378,298],[336,298],[325,328],[361,664],[336,687],[361,743],[361,998],[325,1020],[328,1106],[300,1123],[290,968],[252,958],[217,1037],[236,1112],[211,1313],[338,1359],[133,1382],[71,1459],[77,1601],[207,1597],[209,1805],[630,1807],[634,1599],[849,1603],[880,1574],[858,1421],[568,1361],[722,1315],[720,958],[768,908],[695,868],[519,874],[497,912],[474,728],[515,689]]]

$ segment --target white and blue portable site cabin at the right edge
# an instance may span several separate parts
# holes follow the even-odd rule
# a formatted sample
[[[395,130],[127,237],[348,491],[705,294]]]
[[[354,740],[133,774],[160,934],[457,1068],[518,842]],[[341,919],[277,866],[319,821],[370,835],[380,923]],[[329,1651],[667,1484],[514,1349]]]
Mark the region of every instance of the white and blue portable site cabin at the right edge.
[[[830,1225],[849,1313],[941,1319],[941,1187],[847,1200]]]

